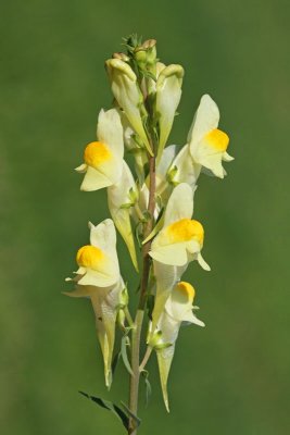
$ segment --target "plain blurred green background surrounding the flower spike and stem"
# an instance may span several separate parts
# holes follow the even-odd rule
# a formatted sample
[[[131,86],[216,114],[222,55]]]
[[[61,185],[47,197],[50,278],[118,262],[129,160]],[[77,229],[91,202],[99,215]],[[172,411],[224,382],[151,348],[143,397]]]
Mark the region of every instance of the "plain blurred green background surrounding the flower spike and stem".
[[[87,221],[108,216],[105,192],[80,192],[73,169],[112,101],[104,60],[133,32],[156,38],[162,60],[186,69],[172,141],[184,144],[209,92],[236,157],[225,181],[202,176],[196,196],[212,273],[192,264],[186,277],[206,328],[181,331],[169,415],[150,362],[140,434],[290,433],[289,12],[282,0],[2,2],[2,434],[123,433],[77,391],[126,400],[127,374],[119,366],[108,394],[90,304],[61,291]]]

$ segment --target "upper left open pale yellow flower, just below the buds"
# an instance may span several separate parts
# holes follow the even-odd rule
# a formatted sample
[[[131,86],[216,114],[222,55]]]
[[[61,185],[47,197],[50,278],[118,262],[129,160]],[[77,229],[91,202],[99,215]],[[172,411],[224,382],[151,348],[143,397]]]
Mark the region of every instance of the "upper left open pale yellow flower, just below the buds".
[[[128,247],[133,263],[138,270],[130,209],[126,208],[126,204],[131,201],[129,194],[137,195],[137,189],[129,166],[123,159],[123,135],[118,111],[116,109],[101,110],[97,124],[98,141],[90,142],[86,147],[85,163],[76,171],[85,172],[81,190],[92,191],[108,187],[111,215]]]

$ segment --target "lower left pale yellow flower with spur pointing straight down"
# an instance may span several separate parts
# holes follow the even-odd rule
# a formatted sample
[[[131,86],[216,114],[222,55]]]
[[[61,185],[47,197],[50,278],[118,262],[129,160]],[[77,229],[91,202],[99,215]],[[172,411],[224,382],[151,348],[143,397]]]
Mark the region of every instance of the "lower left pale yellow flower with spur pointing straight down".
[[[90,223],[89,227],[90,245],[83,246],[77,251],[76,276],[66,279],[75,282],[76,289],[65,295],[88,297],[91,300],[103,355],[105,385],[110,387],[117,308],[125,285],[119,273],[113,221],[106,219],[97,226]]]

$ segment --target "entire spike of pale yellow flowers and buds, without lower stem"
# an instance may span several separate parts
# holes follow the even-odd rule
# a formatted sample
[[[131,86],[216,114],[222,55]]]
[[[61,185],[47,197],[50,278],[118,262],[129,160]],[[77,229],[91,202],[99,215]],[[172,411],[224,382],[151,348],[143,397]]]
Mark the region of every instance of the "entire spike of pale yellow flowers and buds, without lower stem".
[[[209,95],[200,100],[184,146],[167,145],[184,69],[161,63],[154,39],[142,42],[133,36],[125,45],[126,53],[114,53],[105,62],[113,109],[100,111],[97,138],[86,146],[76,169],[84,174],[81,190],[106,188],[112,219],[89,224],[90,244],[77,252],[78,270],[74,278],[67,278],[75,289],[66,294],[91,300],[110,387],[115,327],[119,325],[128,337],[137,327],[128,308],[134,293],[127,291],[119,271],[117,228],[146,283],[140,286],[139,302],[139,309],[148,313],[144,340],[148,355],[156,352],[168,410],[167,378],[179,328],[188,323],[204,326],[194,314],[196,290],[181,281],[192,261],[210,271],[201,253],[204,228],[192,219],[197,183],[202,172],[224,178],[223,161],[232,158],[227,153],[229,138],[218,129],[218,108]],[[134,158],[133,167],[125,160],[127,154]],[[153,304],[147,310],[149,300]]]

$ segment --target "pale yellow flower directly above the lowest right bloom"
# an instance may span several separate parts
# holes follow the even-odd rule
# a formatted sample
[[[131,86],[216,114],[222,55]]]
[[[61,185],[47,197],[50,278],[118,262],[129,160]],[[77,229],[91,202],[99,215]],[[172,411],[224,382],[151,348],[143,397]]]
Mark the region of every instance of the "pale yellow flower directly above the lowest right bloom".
[[[172,289],[180,279],[189,262],[197,260],[206,271],[209,264],[201,256],[204,231],[198,221],[191,219],[193,213],[193,190],[181,183],[169,197],[164,224],[151,245],[156,295],[153,310],[153,328],[164,309]]]

